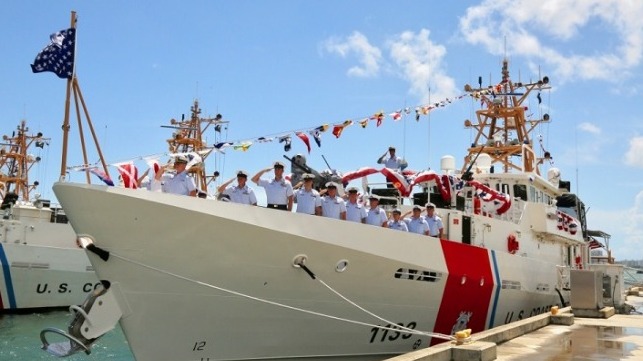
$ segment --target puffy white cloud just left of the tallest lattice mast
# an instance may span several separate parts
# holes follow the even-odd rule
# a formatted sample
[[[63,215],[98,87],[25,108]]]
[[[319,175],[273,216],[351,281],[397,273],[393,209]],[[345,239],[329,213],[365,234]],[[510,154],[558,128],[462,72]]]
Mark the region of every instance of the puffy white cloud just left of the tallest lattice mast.
[[[390,55],[399,67],[402,77],[411,85],[411,93],[422,101],[444,99],[456,94],[453,78],[447,76],[443,65],[446,48],[433,43],[430,31],[420,30],[417,34],[405,31],[388,43]]]

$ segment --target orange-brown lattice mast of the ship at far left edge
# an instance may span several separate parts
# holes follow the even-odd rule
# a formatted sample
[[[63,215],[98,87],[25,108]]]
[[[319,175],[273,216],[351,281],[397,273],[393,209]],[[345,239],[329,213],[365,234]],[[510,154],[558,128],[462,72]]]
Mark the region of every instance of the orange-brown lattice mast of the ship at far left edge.
[[[33,156],[27,151],[32,144],[43,148],[49,144],[49,138],[43,138],[42,133],[28,134],[26,121],[21,121],[17,132],[12,136],[5,135],[0,143],[0,195],[4,198],[10,192],[17,194],[23,200],[29,200],[29,192],[38,186],[38,182],[29,183],[29,171],[40,157]]]

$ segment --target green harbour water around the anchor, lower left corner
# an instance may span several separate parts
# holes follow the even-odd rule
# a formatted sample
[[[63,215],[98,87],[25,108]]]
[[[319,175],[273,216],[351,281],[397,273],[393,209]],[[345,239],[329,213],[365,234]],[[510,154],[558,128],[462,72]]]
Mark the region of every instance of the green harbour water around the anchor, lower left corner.
[[[66,330],[72,314],[67,311],[0,315],[0,361],[10,360],[60,360],[40,349],[40,331],[47,327]],[[47,334],[50,343],[61,341],[61,337]],[[91,354],[84,352],[67,357],[67,361],[110,360],[134,361],[123,331],[117,326],[103,335],[91,348]]]

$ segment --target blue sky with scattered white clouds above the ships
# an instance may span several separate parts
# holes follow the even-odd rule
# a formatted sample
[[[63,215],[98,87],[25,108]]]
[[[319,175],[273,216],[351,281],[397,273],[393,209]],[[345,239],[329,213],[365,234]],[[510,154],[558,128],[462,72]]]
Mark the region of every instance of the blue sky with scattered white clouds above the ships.
[[[51,138],[30,175],[50,199],[60,173],[66,82],[33,74],[29,65],[50,34],[69,27],[72,10],[76,74],[110,164],[166,152],[171,130],[161,125],[189,116],[195,99],[202,116],[229,121],[221,137],[242,142],[455,99],[478,77],[484,86],[499,82],[506,57],[514,81],[550,79],[542,103],[529,103],[529,111],[551,122],[532,135],[542,137],[537,151],[552,154],[589,207],[589,228],[612,235],[617,260],[643,259],[643,122],[636,108],[643,100],[643,2],[5,1],[1,131],[26,119],[30,130]],[[221,172],[222,182],[239,169],[254,174],[284,154],[304,154],[317,170],[327,161],[347,172],[377,166],[390,145],[410,169],[439,170],[444,155],[460,168],[474,136],[463,124],[477,109],[465,97],[419,122],[411,114],[387,117],[380,127],[347,127],[340,138],[326,132],[310,154],[294,136],[290,152],[278,142],[228,148],[211,157],[208,170]],[[71,165],[82,164],[75,130],[72,124]],[[206,138],[217,139],[214,132]],[[69,178],[83,181],[81,173]]]

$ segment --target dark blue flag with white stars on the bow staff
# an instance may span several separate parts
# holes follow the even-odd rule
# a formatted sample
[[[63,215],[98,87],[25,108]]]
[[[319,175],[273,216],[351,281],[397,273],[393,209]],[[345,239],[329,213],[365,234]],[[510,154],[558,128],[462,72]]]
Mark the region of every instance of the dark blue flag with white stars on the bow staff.
[[[34,73],[51,71],[59,78],[71,79],[74,73],[76,29],[61,30],[50,36],[51,43],[42,49],[31,65]]]

